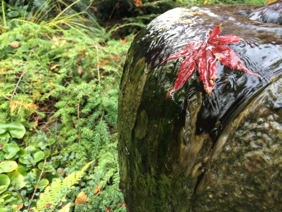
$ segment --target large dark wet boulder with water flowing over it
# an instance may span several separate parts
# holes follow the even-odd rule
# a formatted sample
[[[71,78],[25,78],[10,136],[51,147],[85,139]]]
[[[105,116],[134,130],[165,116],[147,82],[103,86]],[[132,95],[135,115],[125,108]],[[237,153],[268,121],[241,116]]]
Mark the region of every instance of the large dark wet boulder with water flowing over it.
[[[118,103],[128,212],[282,211],[282,26],[248,18],[258,9],[176,8],[134,39]],[[217,61],[211,96],[195,73],[168,98],[183,58],[162,61],[219,24],[261,79]]]

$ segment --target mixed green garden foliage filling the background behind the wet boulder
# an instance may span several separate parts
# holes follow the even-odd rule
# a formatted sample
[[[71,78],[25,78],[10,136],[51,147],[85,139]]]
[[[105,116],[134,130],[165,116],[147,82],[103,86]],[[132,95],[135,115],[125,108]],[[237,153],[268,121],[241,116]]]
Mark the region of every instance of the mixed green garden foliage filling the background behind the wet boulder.
[[[59,187],[54,194],[56,204],[44,199],[44,211],[57,212],[71,203],[74,212],[125,212],[118,188],[117,103],[122,67],[134,34],[173,7],[198,3],[264,5],[266,1],[141,3],[1,0],[0,148],[6,145],[17,150],[9,160],[18,165],[13,173],[23,178],[17,181],[21,186],[10,183],[5,192],[1,192],[0,180],[0,212],[36,211],[39,202],[44,207],[40,197],[45,187],[73,176],[89,161],[93,162],[80,183]],[[1,128],[4,123],[21,123],[26,132],[12,136],[9,129]],[[28,152],[33,147],[35,152],[44,152],[42,157]],[[0,166],[14,152],[0,150]],[[88,201],[74,204],[81,191]]]

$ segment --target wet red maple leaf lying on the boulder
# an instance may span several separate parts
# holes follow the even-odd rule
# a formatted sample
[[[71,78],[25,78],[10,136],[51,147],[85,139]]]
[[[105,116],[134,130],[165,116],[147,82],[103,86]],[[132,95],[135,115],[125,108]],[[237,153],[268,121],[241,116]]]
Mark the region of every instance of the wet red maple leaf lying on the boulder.
[[[221,24],[215,27],[213,31],[208,31],[207,39],[205,41],[196,40],[188,42],[188,45],[179,52],[164,59],[162,63],[167,60],[186,57],[180,65],[174,87],[168,93],[169,97],[187,82],[195,72],[196,68],[199,73],[199,80],[204,83],[204,89],[208,95],[211,96],[211,91],[214,88],[214,81],[217,76],[216,59],[218,59],[222,65],[229,68],[260,77],[258,74],[247,69],[232,49],[222,46],[222,44],[234,44],[243,39],[234,35],[218,36],[220,28]]]

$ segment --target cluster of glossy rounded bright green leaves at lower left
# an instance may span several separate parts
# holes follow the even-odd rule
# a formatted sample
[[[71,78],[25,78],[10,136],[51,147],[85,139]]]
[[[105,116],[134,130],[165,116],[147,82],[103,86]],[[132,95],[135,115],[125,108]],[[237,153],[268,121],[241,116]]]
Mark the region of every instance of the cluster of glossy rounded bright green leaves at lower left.
[[[9,190],[0,196],[0,202],[2,202],[0,209],[7,210],[12,202],[15,205],[23,204],[21,207],[24,205],[30,207],[37,189],[43,189],[49,184],[48,179],[51,176],[47,176],[47,173],[55,171],[54,167],[47,165],[47,159],[50,156],[48,147],[53,144],[53,141],[49,139],[48,142],[42,142],[44,140],[43,133],[38,132],[40,136],[36,136],[37,142],[33,143],[34,146],[29,145],[23,148],[15,140],[15,138],[24,137],[26,130],[22,124],[17,122],[0,123],[0,129],[0,145],[2,145],[0,151],[0,193]],[[43,160],[44,164],[42,165],[43,162],[40,161]]]

